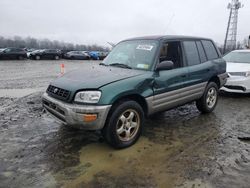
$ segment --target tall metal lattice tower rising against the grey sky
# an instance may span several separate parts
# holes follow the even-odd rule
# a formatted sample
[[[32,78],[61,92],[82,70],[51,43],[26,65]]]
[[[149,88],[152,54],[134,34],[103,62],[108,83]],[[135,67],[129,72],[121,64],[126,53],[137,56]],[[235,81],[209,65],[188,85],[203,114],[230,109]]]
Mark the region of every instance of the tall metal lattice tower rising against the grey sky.
[[[224,42],[224,53],[227,50],[235,50],[236,48],[236,40],[237,40],[237,26],[238,26],[238,13],[239,9],[242,8],[243,5],[239,0],[231,0],[231,3],[228,4],[227,8],[230,10],[227,32]]]

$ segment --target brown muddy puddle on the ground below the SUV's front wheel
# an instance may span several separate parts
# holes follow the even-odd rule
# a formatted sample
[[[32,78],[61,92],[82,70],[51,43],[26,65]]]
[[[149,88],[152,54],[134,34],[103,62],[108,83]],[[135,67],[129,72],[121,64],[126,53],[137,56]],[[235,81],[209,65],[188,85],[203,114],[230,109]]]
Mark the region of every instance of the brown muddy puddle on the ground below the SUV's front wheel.
[[[168,159],[181,145],[156,144],[145,137],[124,150],[114,150],[105,143],[90,144],[81,149],[78,166],[64,169],[55,177],[59,182],[67,179],[65,187],[174,187],[182,177],[168,168]]]

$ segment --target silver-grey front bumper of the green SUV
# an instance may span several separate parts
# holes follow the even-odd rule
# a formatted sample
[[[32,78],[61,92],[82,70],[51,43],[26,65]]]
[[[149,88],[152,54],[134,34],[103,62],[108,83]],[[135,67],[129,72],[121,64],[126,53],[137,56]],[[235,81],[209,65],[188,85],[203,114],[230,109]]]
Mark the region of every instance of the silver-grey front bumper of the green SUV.
[[[111,105],[78,105],[68,104],[43,94],[43,107],[57,121],[72,127],[84,130],[100,130],[104,127]],[[92,122],[85,122],[85,114],[96,114],[97,119]]]

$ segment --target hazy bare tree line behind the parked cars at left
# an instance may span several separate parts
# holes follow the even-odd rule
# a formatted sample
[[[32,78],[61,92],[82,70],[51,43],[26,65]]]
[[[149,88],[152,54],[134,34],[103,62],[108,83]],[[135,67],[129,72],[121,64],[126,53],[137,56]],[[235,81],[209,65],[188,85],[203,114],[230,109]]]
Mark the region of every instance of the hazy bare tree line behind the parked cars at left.
[[[33,48],[33,49],[60,49],[60,50],[82,50],[82,51],[110,51],[109,47],[93,44],[73,44],[58,40],[36,39],[33,37],[22,38],[15,36],[6,38],[0,36],[0,48],[15,47],[15,48]]]

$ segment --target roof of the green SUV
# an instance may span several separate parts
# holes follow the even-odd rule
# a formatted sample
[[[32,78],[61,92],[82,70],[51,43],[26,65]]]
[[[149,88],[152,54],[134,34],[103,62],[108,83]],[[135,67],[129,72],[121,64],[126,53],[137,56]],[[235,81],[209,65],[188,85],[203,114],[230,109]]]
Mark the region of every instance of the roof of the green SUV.
[[[192,36],[183,36],[183,35],[153,35],[153,36],[143,36],[143,37],[135,37],[126,39],[127,40],[171,40],[171,39],[205,39],[205,40],[211,40],[208,38],[203,37],[192,37]]]

